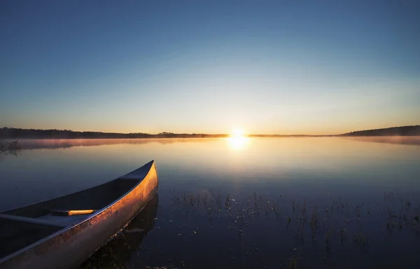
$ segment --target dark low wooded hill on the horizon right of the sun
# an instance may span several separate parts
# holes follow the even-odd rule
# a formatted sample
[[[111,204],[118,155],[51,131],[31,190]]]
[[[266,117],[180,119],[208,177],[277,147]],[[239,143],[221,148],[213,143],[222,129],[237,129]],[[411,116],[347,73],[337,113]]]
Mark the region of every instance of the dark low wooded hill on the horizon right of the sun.
[[[419,136],[420,125],[391,127],[384,129],[363,130],[348,132],[343,137],[391,137],[391,136]]]

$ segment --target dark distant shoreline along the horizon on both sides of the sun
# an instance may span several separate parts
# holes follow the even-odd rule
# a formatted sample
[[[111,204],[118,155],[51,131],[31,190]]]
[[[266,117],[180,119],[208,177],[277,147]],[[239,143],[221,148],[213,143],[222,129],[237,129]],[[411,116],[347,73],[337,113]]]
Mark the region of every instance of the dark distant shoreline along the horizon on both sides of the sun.
[[[246,137],[392,137],[420,136],[420,125],[389,127],[375,130],[361,130],[341,135],[246,135]],[[0,139],[161,139],[161,138],[225,138],[225,134],[175,134],[161,132],[148,134],[142,132],[78,132],[71,130],[36,130],[21,128],[0,128]]]

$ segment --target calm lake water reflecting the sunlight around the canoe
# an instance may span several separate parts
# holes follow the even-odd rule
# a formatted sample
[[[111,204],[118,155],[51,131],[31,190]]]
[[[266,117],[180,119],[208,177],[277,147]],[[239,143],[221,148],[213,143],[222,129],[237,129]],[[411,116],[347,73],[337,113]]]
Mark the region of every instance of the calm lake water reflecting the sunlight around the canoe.
[[[419,137],[22,143],[0,158],[0,211],[155,160],[158,198],[118,258],[129,268],[419,268]]]

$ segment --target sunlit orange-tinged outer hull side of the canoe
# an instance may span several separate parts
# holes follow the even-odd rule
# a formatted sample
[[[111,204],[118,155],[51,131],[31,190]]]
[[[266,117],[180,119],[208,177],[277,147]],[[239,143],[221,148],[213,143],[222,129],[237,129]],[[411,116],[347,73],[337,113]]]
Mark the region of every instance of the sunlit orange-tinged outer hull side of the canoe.
[[[136,171],[146,175],[123,197],[76,226],[59,230],[42,242],[5,257],[5,261],[0,261],[0,268],[76,268],[124,228],[158,191],[158,173],[153,161]],[[130,180],[130,174],[121,178]]]

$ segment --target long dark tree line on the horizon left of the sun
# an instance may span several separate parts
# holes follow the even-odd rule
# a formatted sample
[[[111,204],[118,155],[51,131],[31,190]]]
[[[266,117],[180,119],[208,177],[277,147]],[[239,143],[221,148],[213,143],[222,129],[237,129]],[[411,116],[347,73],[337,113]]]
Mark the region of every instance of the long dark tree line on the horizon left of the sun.
[[[134,139],[134,138],[195,138],[195,137],[227,137],[228,135],[207,134],[174,134],[173,132],[161,132],[151,135],[144,132],[130,132],[123,134],[118,132],[78,132],[72,130],[41,130],[0,128],[0,139]]]

